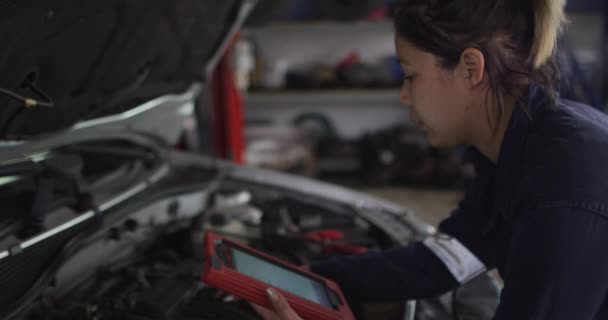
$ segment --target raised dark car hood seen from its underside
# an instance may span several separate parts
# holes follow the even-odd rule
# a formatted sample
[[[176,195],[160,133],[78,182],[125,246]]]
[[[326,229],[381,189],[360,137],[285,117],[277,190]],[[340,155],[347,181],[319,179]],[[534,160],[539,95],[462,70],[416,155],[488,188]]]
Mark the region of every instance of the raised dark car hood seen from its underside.
[[[254,5],[0,1],[0,139],[46,136],[187,92],[204,83]]]

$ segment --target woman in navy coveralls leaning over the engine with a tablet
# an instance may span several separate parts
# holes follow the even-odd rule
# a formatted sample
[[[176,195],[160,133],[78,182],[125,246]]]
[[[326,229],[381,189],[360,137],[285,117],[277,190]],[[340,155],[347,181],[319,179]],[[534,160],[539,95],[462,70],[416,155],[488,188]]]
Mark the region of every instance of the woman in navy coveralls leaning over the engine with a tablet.
[[[313,272],[353,300],[390,302],[497,268],[497,320],[608,319],[608,118],[558,96],[564,3],[402,2],[401,101],[433,145],[472,147],[476,179],[439,236]],[[258,308],[265,317],[298,319],[270,298],[274,313]]]

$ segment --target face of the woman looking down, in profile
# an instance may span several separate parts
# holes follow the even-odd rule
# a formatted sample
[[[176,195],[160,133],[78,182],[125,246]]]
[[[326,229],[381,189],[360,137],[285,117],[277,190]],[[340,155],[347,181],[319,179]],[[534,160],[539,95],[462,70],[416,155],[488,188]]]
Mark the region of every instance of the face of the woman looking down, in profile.
[[[470,144],[473,96],[466,67],[446,70],[437,57],[396,36],[395,46],[405,79],[401,103],[409,106],[410,116],[437,147]]]

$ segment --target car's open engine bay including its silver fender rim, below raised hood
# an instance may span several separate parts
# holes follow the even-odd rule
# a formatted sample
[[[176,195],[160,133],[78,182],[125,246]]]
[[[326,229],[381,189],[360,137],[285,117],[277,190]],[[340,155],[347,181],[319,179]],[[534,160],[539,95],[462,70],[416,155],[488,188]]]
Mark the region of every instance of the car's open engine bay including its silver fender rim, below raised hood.
[[[38,210],[44,214],[30,213],[21,221],[5,216],[0,244],[8,249],[0,258],[0,280],[7,290],[0,302],[6,319],[259,319],[247,303],[227,300],[202,283],[206,232],[294,265],[388,249],[424,236],[406,215],[310,180],[277,178],[186,153],[163,155],[124,141],[59,151],[41,160],[42,171],[33,180],[5,186],[24,184],[31,190],[27,197],[37,199],[39,172],[54,181],[60,174],[65,180],[60,188],[46,192],[51,199],[70,200],[45,200],[44,210]],[[49,160],[65,163],[75,156],[81,164],[72,171],[79,174],[49,167]],[[24,226],[29,233],[20,235]],[[475,306],[482,301],[489,311],[475,319],[490,319],[497,304],[490,282],[483,278],[481,287],[460,295],[466,299],[448,294],[349,305],[362,320],[449,320],[457,319],[457,307],[479,315]]]

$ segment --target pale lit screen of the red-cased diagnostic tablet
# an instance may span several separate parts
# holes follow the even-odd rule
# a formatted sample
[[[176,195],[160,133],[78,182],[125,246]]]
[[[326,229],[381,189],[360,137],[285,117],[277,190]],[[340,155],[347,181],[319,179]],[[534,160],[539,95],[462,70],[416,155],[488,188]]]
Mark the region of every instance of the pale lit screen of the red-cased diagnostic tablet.
[[[286,269],[234,246],[230,246],[230,248],[232,249],[233,267],[236,271],[325,307],[333,308],[323,282]]]

